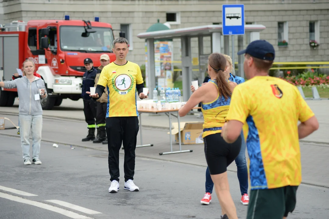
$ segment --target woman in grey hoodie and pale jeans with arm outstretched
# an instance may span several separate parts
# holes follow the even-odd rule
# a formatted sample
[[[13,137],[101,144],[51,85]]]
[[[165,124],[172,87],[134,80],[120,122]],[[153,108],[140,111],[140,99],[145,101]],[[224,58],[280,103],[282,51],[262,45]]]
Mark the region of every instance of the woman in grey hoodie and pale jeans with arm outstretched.
[[[35,71],[34,62],[27,59],[23,62],[24,77],[13,81],[0,82],[0,87],[17,88],[19,98],[19,129],[23,159],[25,165],[31,165],[30,157],[30,131],[32,129],[32,163],[41,164],[39,160],[41,130],[42,130],[42,108],[40,97],[47,97],[44,81],[33,75]]]

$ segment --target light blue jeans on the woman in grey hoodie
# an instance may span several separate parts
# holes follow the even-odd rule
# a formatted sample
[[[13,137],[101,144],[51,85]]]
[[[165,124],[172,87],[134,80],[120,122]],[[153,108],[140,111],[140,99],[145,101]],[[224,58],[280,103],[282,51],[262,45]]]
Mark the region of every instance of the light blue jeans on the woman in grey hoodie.
[[[23,151],[23,159],[30,157],[30,132],[32,130],[32,159],[39,158],[42,115],[19,115],[19,132]]]

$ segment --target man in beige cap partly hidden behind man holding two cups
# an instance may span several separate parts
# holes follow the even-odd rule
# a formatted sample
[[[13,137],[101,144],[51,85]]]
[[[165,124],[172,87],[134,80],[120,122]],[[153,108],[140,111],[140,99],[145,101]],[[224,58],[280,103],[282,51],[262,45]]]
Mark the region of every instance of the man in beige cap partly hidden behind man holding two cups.
[[[100,76],[104,66],[110,64],[110,57],[107,54],[102,54],[100,57],[100,61],[101,61],[101,66],[99,66],[97,69],[94,87],[97,86],[99,76]],[[98,128],[97,128],[96,139],[92,142],[93,143],[103,142],[103,144],[107,144],[106,130],[105,130],[107,102],[108,102],[107,89],[104,90],[104,93],[102,94],[101,98],[97,99],[96,101],[97,101],[96,123],[97,123]]]

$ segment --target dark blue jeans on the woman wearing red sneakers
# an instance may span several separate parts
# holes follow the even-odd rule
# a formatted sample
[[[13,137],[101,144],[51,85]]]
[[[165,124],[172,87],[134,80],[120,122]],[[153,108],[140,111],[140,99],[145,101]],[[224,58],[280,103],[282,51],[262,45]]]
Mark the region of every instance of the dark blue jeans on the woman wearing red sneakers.
[[[248,169],[245,157],[246,142],[244,141],[243,132],[241,131],[241,150],[238,157],[235,159],[238,170],[238,180],[240,184],[241,195],[248,193]],[[209,168],[206,169],[206,192],[213,193],[214,183],[210,176]]]

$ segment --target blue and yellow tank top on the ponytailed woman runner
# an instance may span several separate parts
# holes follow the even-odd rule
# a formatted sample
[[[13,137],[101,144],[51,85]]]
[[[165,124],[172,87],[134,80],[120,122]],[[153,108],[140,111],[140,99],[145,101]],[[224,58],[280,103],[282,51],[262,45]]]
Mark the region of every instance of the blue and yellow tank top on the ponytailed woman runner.
[[[209,82],[214,83],[217,87],[215,80]],[[217,95],[217,98],[209,103],[201,104],[201,111],[204,118],[202,138],[207,135],[222,132],[222,127],[226,122],[226,115],[230,107],[231,98],[225,100],[223,96]]]

